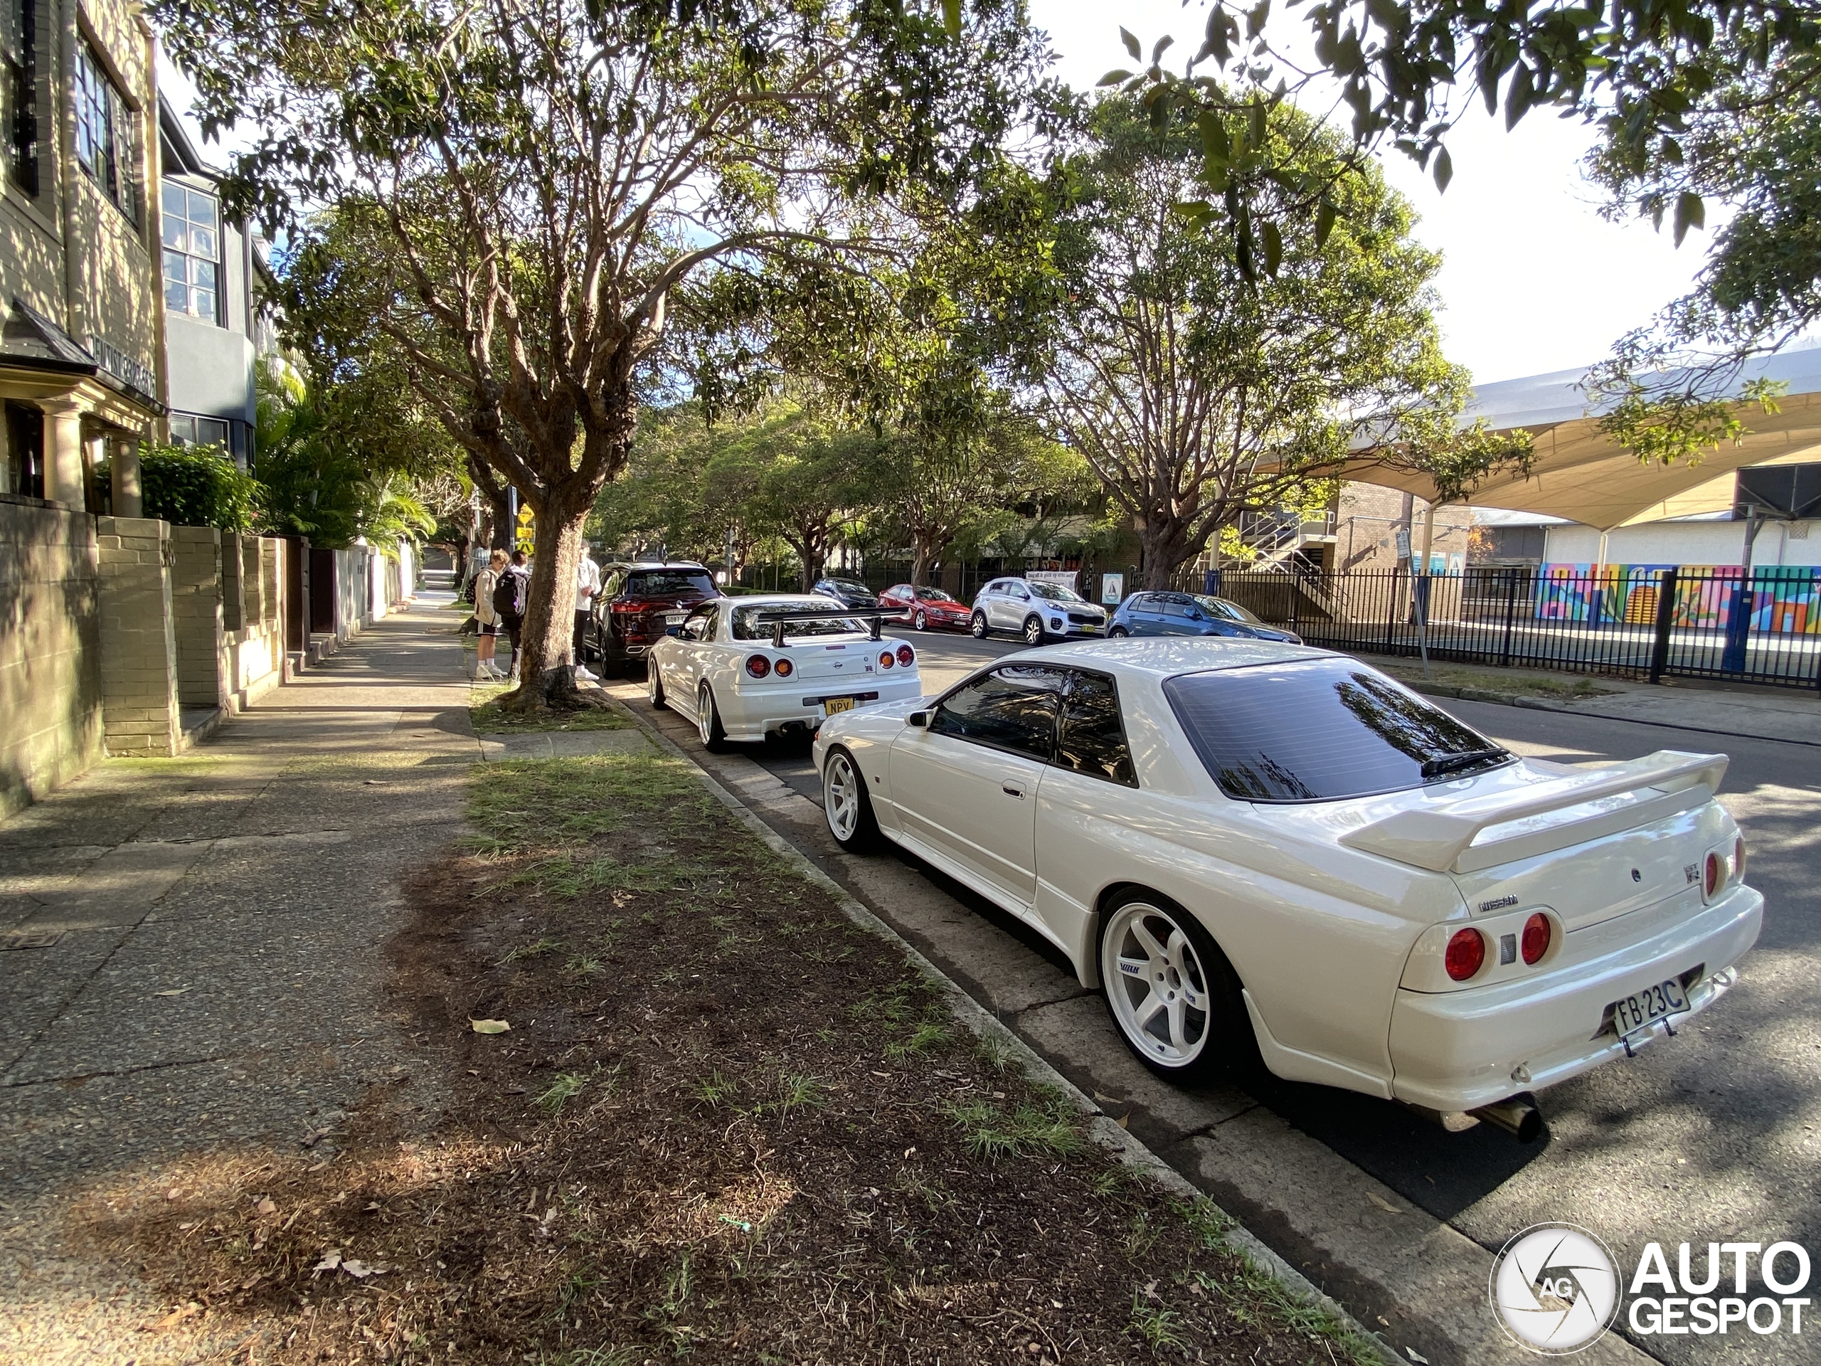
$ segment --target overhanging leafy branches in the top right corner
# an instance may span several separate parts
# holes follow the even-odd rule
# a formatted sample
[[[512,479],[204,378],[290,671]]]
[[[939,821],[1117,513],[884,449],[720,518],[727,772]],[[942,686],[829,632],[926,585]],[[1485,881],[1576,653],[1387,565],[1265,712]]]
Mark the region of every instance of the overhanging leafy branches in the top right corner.
[[[1535,107],[1573,111],[1601,129],[1590,171],[1610,191],[1610,217],[1668,222],[1681,246],[1706,224],[1710,204],[1728,211],[1694,293],[1621,339],[1595,372],[1593,393],[1613,401],[1608,433],[1644,459],[1695,457],[1739,433],[1735,397],[1770,397],[1766,386],[1735,393],[1741,364],[1821,319],[1821,195],[1810,175],[1821,13],[1812,4],[1315,0],[1300,5],[1313,69],[1273,46],[1269,13],[1269,0],[1253,9],[1215,0],[1182,75],[1162,66],[1171,46],[1162,38],[1144,69],[1104,82],[1142,93],[1158,126],[1266,109],[1317,78],[1340,84],[1351,146],[1295,184],[1273,184],[1278,168],[1258,157],[1256,140],[1207,138],[1204,178],[1222,197],[1215,213],[1242,235],[1273,197],[1278,215],[1331,222],[1329,186],[1378,146],[1413,157],[1446,189],[1446,138],[1475,95],[1488,111],[1504,107],[1506,127]],[[1138,40],[1122,36],[1142,60]],[[1240,84],[1196,75],[1202,62]]]

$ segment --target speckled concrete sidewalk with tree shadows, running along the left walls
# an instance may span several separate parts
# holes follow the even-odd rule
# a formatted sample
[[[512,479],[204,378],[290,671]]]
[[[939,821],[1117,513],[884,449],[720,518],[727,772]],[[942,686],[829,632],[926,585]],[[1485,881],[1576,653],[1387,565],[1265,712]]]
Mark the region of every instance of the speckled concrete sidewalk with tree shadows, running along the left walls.
[[[386,998],[399,878],[461,831],[457,621],[375,623],[177,759],[0,825],[0,1361],[178,1361],[171,1310],[67,1239],[111,1184],[320,1162],[362,1089],[433,1109]],[[13,947],[18,945],[18,947]]]

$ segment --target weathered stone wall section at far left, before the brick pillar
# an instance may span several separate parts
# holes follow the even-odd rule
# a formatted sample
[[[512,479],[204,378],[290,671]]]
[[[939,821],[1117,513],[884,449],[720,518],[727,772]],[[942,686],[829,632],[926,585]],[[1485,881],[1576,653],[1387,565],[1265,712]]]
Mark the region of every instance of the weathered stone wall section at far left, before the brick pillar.
[[[95,521],[0,501],[0,818],[102,754]]]

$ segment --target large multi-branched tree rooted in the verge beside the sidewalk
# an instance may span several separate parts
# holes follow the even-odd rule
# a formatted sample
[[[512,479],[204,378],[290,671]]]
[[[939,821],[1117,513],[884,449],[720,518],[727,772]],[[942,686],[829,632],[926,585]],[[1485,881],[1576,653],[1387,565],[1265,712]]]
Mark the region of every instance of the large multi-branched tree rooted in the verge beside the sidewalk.
[[[1014,0],[479,0],[297,11],[164,0],[204,129],[248,120],[229,199],[326,202],[361,244],[315,302],[390,337],[417,395],[534,508],[524,687],[577,703],[568,586],[643,390],[716,275],[805,288],[889,248],[870,206],[963,195],[1036,80]]]

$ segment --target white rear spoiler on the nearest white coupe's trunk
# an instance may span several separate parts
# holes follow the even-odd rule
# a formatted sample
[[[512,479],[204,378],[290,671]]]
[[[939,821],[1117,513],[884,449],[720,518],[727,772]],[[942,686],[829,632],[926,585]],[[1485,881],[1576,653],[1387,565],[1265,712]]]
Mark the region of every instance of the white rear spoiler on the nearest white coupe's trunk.
[[[1371,825],[1340,836],[1348,849],[1380,854],[1399,863],[1413,863],[1433,872],[1473,872],[1517,858],[1530,858],[1568,843],[1597,840],[1650,820],[1706,803],[1726,776],[1724,754],[1684,754],[1659,749],[1641,759],[1610,763],[1568,774],[1517,792],[1490,792],[1429,810],[1400,810]],[[1546,816],[1626,792],[1648,792],[1641,803],[1588,816],[1555,827],[1515,829],[1486,843],[1479,834],[1495,825]],[[1564,838],[1566,836],[1566,838]]]

